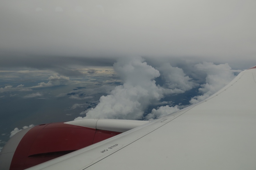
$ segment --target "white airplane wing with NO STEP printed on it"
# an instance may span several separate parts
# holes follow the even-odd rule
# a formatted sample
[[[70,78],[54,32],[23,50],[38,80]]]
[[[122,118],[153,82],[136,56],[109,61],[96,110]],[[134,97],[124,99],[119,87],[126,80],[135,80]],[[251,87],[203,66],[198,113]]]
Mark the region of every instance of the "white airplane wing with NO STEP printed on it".
[[[28,170],[255,170],[255,68],[202,102]]]

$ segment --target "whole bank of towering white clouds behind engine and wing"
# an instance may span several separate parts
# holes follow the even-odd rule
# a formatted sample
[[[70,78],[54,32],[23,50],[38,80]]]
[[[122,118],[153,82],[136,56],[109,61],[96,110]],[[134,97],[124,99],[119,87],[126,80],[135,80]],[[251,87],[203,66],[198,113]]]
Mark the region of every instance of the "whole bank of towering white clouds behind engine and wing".
[[[171,101],[161,101],[164,96],[184,93],[199,84],[190,78],[181,68],[172,67],[170,63],[161,64],[153,68],[141,57],[121,58],[114,64],[114,69],[123,80],[123,85],[116,86],[110,95],[101,96],[100,103],[95,108],[85,109],[80,115],[82,118],[107,118],[107,119],[158,119],[167,114],[171,114],[186,106],[172,106]],[[205,83],[198,89],[201,95],[191,98],[190,104],[197,103],[228,84],[235,78],[235,72],[228,64],[215,65],[203,62],[194,65],[197,72],[205,75]],[[161,74],[160,74],[161,73]],[[162,79],[162,86],[156,85],[156,79]],[[169,105],[163,106],[164,103]],[[153,109],[145,116],[145,110],[149,105],[162,103],[158,109]],[[74,105],[73,107],[80,107]]]

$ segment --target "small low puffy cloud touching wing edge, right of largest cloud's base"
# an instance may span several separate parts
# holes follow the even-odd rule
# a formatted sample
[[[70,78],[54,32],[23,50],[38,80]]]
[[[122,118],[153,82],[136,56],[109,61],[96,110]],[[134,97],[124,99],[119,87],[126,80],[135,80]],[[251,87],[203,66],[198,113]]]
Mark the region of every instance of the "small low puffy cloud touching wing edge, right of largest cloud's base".
[[[144,118],[145,118],[145,120],[152,121],[154,119],[158,119],[160,117],[166,116],[166,115],[171,114],[173,112],[176,112],[178,110],[180,110],[178,105],[176,105],[174,107],[170,107],[168,105],[161,106],[157,110],[156,109],[152,109],[152,112],[149,113]]]

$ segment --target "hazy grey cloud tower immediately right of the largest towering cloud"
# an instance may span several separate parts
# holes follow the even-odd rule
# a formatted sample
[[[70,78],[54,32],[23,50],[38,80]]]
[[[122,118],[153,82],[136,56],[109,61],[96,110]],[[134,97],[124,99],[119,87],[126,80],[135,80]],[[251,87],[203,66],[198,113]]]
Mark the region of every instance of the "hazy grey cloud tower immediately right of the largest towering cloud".
[[[170,63],[164,63],[161,67],[157,67],[161,73],[161,78],[164,79],[164,87],[172,89],[172,93],[183,93],[190,90],[199,84],[192,81],[181,68],[172,67]],[[179,90],[180,89],[180,90]]]

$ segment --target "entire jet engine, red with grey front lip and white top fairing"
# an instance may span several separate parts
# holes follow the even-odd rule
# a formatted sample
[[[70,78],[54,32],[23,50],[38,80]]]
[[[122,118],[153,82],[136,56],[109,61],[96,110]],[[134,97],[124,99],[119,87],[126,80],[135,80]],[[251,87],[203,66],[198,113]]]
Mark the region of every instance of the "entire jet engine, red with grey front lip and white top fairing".
[[[0,169],[24,170],[145,123],[148,121],[83,119],[27,128],[5,144],[0,152]]]

